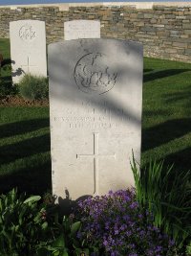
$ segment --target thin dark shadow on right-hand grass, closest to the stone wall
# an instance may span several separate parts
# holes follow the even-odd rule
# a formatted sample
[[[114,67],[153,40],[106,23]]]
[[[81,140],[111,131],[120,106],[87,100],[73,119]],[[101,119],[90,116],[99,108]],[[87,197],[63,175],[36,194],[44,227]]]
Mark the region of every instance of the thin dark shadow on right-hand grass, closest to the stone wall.
[[[143,81],[154,81],[157,79],[163,79],[175,75],[179,75],[180,73],[191,71],[190,69],[165,69],[165,70],[159,70],[154,71],[149,74],[143,75]]]

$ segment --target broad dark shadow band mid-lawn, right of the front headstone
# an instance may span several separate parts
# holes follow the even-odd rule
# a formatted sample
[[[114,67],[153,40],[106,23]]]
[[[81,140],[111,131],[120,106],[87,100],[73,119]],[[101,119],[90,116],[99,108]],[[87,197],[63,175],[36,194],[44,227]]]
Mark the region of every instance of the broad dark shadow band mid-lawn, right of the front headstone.
[[[142,151],[148,151],[180,138],[191,131],[191,118],[166,121],[156,127],[142,129]],[[191,154],[190,154],[191,158]]]

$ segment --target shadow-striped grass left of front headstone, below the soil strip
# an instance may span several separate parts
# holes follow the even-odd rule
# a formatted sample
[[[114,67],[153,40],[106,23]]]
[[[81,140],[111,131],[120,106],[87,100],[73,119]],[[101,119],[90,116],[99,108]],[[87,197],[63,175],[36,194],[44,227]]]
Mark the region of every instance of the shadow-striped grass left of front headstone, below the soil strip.
[[[49,108],[1,107],[0,124],[0,190],[51,189]]]

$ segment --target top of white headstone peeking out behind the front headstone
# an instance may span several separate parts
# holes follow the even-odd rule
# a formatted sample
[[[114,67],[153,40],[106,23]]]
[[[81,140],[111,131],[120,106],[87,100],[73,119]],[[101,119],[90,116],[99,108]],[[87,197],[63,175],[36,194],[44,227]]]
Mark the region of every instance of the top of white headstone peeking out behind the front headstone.
[[[64,39],[100,38],[100,21],[73,20],[64,23]]]

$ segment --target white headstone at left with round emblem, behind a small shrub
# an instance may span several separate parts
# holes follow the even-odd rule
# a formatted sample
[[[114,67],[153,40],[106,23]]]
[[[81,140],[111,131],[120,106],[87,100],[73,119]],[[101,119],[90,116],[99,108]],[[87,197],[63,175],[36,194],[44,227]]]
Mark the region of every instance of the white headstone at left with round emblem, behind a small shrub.
[[[10,23],[12,81],[25,74],[47,76],[45,22],[18,20]]]

